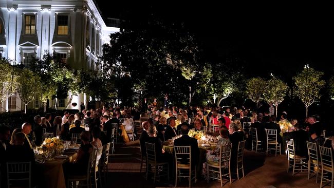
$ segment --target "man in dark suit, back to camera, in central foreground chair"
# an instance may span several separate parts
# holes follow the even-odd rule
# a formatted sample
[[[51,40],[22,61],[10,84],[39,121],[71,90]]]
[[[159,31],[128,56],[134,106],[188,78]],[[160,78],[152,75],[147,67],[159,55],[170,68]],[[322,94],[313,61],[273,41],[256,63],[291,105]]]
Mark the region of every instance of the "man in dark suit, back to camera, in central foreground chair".
[[[187,125],[181,126],[182,137],[174,140],[174,146],[191,146],[191,159],[192,165],[198,164],[199,160],[199,148],[195,138],[189,137],[189,128]],[[182,158],[181,163],[187,164],[187,157]]]

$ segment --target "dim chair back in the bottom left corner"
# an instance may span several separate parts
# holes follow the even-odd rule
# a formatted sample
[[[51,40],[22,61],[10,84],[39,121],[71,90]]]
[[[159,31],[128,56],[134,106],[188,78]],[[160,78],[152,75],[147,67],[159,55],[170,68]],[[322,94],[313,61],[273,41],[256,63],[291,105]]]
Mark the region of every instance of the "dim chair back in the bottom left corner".
[[[7,162],[7,184],[17,184],[31,187],[31,162]],[[21,183],[22,182],[22,183]]]

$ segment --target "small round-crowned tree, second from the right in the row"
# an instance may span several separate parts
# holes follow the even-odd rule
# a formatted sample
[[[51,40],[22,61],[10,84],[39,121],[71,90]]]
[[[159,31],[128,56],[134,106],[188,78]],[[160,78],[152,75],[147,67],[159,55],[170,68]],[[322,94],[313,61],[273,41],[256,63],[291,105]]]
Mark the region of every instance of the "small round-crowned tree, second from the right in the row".
[[[272,103],[276,107],[276,117],[277,108],[281,104],[288,91],[288,86],[282,80],[272,77],[267,81],[265,92],[263,93],[265,101]]]

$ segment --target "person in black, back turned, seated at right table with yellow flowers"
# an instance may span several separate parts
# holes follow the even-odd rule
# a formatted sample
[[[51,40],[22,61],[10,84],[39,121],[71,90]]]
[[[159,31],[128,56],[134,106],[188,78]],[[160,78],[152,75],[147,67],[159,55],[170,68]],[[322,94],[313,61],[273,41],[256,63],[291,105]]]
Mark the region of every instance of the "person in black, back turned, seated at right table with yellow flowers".
[[[295,124],[294,129],[295,131],[286,133],[284,135],[284,139],[293,139],[295,155],[305,157],[308,155],[306,144],[306,141],[308,140],[308,133],[307,131],[303,130],[302,126],[300,126],[299,124]]]

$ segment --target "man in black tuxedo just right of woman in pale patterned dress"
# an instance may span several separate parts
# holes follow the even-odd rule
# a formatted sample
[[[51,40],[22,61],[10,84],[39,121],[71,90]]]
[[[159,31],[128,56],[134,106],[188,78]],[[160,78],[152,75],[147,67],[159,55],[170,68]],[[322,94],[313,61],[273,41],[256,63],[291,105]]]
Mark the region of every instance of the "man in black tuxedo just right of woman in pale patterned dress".
[[[237,162],[237,155],[238,155],[238,146],[239,142],[244,141],[244,134],[243,131],[238,131],[239,126],[235,123],[231,123],[229,125],[229,133],[230,133],[230,141],[232,143],[231,148],[231,172],[236,172],[236,162]]]

